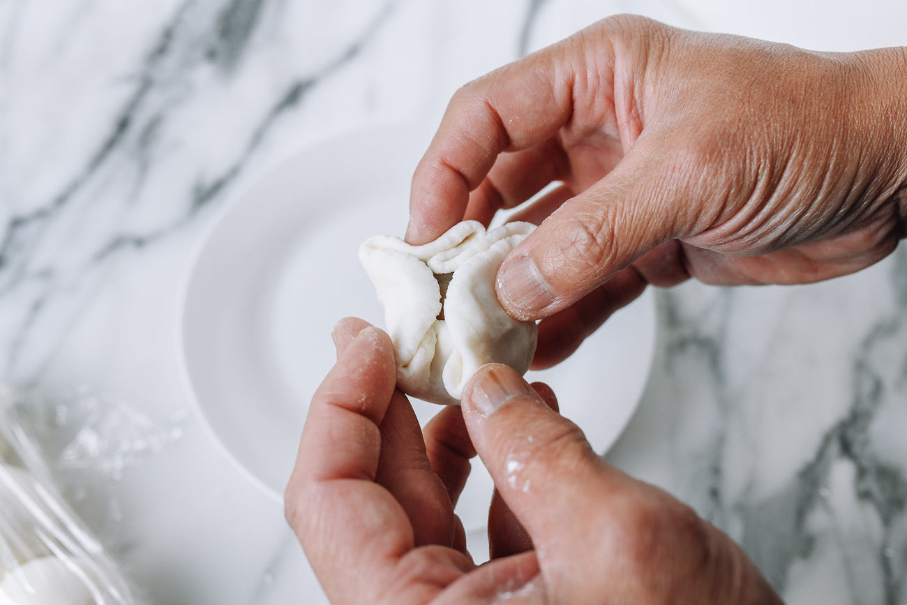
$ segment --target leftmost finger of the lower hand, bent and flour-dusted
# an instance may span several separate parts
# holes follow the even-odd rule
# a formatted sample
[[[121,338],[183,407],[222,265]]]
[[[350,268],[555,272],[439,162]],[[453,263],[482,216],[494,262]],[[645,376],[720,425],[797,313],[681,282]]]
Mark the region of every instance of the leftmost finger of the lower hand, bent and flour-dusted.
[[[404,509],[374,483],[378,424],[395,383],[390,337],[366,327],[312,398],[285,494],[288,522],[325,590],[340,602],[356,602],[355,586],[374,585],[413,548]]]

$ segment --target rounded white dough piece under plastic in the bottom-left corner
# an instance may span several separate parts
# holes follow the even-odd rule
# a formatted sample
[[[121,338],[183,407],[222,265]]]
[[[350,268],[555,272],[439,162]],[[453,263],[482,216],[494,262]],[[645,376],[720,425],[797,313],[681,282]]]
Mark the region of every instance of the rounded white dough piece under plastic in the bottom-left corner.
[[[24,585],[22,581],[27,582]],[[56,557],[28,561],[0,582],[0,605],[94,605],[85,582]]]

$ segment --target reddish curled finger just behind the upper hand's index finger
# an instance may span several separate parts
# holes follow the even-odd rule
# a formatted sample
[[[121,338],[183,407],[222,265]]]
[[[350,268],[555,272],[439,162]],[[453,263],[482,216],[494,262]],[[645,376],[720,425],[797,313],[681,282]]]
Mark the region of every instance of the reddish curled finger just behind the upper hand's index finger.
[[[557,138],[523,151],[502,153],[492,170],[469,196],[464,220],[479,220],[486,227],[498,210],[515,208],[552,181],[561,181],[570,161]]]

